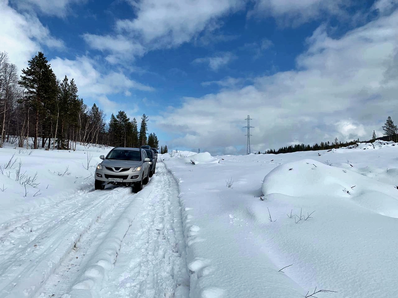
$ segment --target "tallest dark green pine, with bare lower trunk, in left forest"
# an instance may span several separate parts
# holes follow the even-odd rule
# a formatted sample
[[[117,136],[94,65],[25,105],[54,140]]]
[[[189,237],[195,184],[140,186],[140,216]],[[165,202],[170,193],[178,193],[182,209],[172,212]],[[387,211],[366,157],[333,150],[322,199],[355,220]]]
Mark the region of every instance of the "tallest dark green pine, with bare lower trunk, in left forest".
[[[29,106],[35,112],[35,137],[33,148],[37,149],[37,139],[39,137],[39,120],[43,114],[43,106],[51,97],[54,86],[53,70],[50,68],[47,58],[42,52],[39,52],[32,60],[28,61],[28,67],[22,70],[23,75],[18,82],[26,89],[25,94]],[[49,84],[50,83],[50,84]]]

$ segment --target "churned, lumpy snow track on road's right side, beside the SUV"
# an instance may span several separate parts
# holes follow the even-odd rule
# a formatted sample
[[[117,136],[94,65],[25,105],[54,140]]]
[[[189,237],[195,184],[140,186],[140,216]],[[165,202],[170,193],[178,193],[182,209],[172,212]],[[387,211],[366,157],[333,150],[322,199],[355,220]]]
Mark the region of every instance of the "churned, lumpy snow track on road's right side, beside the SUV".
[[[163,163],[157,165],[151,192],[121,242],[115,267],[98,296],[189,297],[178,187]]]

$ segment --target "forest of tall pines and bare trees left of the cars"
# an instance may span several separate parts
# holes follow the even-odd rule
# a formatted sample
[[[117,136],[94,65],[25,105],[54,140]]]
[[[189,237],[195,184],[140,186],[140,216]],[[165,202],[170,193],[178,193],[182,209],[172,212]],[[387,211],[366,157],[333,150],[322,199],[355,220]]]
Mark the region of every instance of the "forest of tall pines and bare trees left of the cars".
[[[88,107],[78,96],[73,78],[57,79],[42,52],[27,63],[18,77],[8,54],[0,53],[0,147],[4,142],[28,147],[31,137],[33,149],[74,150],[77,143],[158,148],[156,134],[148,134],[145,114],[139,127],[122,110],[107,124],[103,110],[95,103]]]

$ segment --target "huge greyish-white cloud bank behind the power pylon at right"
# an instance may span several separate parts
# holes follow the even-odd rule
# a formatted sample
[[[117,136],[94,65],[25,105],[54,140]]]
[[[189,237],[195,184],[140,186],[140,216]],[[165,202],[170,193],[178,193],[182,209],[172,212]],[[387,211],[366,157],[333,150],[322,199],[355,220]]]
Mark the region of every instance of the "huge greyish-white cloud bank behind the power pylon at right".
[[[156,119],[159,128],[181,132],[170,147],[245,145],[242,126],[248,114],[255,126],[253,148],[367,139],[388,115],[398,118],[398,11],[339,39],[320,27],[308,46],[297,58],[297,70],[185,98],[180,108],[166,111]]]

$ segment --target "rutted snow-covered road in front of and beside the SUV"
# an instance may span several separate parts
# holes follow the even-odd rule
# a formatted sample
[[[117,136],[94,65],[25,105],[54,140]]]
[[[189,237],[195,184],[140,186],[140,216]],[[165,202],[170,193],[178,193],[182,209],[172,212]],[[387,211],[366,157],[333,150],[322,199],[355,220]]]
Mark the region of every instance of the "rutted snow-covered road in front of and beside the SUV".
[[[0,234],[1,297],[187,297],[178,187],[164,164],[138,194],[82,190]]]

